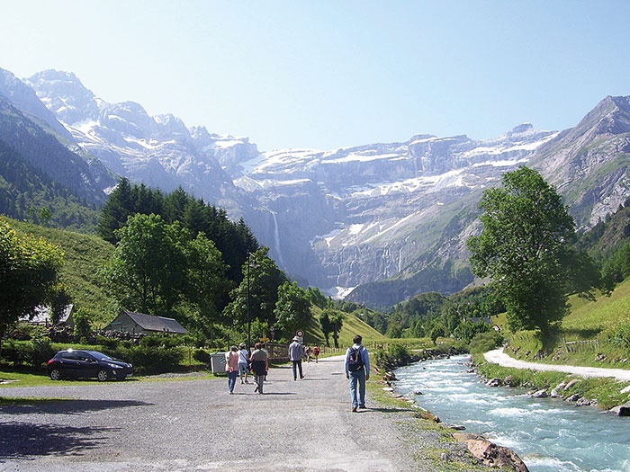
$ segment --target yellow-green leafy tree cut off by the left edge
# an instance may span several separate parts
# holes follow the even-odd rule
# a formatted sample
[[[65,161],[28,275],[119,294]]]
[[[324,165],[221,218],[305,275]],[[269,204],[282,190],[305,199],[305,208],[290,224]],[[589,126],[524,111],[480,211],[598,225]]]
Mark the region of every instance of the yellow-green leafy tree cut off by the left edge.
[[[0,220],[0,339],[9,325],[58,295],[63,252],[33,236],[19,236]]]

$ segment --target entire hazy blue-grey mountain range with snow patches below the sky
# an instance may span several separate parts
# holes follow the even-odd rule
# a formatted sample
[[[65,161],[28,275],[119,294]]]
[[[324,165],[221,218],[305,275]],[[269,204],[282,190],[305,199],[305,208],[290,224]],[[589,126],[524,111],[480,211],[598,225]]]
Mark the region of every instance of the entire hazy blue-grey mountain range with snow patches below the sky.
[[[67,72],[20,80],[0,69],[2,103],[79,157],[73,166],[85,165],[81,182],[96,204],[114,174],[182,187],[244,218],[293,279],[374,307],[472,283],[465,241],[479,230],[482,191],[519,165],[555,185],[581,230],[630,196],[630,97],[608,96],[562,131],[526,123],[484,140],[419,134],[267,152],[170,114],[151,117],[139,103],[104,102]]]

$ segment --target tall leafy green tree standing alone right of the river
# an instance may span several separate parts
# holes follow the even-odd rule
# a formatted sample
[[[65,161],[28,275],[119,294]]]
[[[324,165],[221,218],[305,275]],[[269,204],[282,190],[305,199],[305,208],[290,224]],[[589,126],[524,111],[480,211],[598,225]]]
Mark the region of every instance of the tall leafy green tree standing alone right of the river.
[[[471,265],[490,277],[513,331],[551,333],[568,310],[567,292],[580,285],[572,243],[575,223],[560,195],[527,167],[503,175],[503,188],[484,192],[482,233],[471,237]],[[580,279],[580,284],[573,281]]]

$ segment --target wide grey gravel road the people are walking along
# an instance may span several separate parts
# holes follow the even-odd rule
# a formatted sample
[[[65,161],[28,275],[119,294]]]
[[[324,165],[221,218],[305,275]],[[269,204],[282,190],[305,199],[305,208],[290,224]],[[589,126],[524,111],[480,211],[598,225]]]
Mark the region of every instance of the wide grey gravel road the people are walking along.
[[[410,433],[410,409],[351,413],[342,356],[304,363],[304,375],[271,370],[265,395],[239,381],[228,395],[225,378],[207,377],[3,387],[0,396],[61,400],[0,406],[0,470],[438,469],[423,451],[444,443]]]

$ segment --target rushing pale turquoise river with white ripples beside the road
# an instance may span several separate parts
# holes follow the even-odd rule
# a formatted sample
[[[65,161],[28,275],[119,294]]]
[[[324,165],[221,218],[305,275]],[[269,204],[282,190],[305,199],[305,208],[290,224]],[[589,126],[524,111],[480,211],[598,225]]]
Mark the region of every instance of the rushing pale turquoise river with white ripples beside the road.
[[[630,418],[532,398],[522,388],[486,387],[467,372],[469,361],[454,356],[401,367],[395,391],[415,397],[443,423],[516,451],[530,472],[630,471]]]

